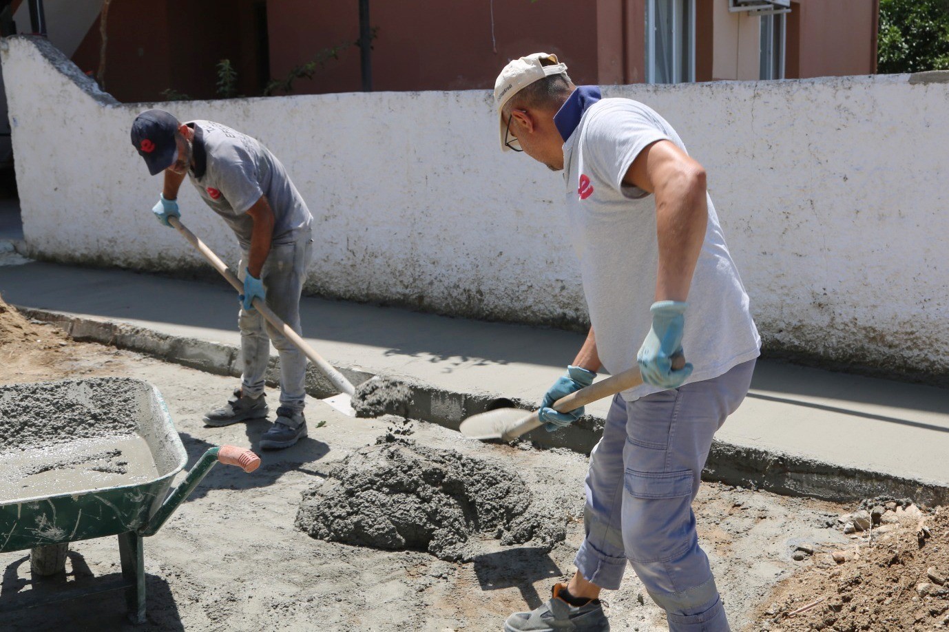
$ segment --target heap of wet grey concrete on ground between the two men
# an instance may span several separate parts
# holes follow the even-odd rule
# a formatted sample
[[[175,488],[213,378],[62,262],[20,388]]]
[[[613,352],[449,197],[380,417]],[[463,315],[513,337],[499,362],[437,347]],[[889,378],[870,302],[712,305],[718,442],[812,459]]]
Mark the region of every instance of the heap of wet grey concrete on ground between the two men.
[[[388,437],[348,455],[303,494],[296,526],[329,542],[471,560],[474,536],[553,548],[563,511],[533,502],[519,474],[452,450]]]

